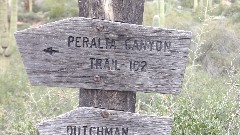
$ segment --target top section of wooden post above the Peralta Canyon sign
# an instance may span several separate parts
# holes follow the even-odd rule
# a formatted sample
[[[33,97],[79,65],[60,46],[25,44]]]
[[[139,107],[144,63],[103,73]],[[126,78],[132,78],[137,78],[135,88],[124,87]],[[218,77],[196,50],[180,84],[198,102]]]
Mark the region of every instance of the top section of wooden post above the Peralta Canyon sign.
[[[131,24],[142,24],[143,4],[144,0],[78,0],[80,17]]]

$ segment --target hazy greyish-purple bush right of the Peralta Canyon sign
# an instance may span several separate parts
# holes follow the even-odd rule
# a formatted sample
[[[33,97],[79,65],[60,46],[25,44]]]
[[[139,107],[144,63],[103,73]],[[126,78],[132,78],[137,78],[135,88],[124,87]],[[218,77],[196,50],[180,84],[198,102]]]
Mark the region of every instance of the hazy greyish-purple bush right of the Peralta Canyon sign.
[[[240,34],[227,24],[218,22],[208,24],[205,31],[209,34],[202,36],[204,42],[199,48],[202,55],[197,59],[204,68],[213,75],[226,74],[226,70],[231,66],[240,68],[240,63],[231,63],[233,59],[240,57]]]

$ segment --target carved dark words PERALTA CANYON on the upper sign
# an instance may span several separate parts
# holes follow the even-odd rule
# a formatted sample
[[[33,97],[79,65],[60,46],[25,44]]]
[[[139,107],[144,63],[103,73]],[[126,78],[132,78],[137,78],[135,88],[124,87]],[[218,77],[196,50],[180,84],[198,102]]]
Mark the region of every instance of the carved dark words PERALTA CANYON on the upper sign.
[[[98,37],[78,37],[69,36],[67,39],[68,47],[76,48],[92,48],[92,49],[120,49],[120,50],[132,50],[132,51],[157,51],[157,52],[167,52],[171,48],[170,41],[160,41],[160,40],[136,40],[134,38],[127,38],[122,44],[115,39],[110,38],[98,38]]]

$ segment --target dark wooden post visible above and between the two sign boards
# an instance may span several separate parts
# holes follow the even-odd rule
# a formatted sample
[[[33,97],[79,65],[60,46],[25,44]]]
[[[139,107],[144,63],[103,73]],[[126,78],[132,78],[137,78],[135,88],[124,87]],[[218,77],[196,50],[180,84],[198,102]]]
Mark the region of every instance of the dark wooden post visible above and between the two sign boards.
[[[142,24],[144,0],[79,0],[79,16]],[[80,89],[83,107],[135,112],[136,93]]]

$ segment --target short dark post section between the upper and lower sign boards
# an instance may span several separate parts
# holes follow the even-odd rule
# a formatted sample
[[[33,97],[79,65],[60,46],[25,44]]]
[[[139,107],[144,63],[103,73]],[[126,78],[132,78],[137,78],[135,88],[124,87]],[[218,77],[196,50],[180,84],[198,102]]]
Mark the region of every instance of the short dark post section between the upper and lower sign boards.
[[[87,96],[86,96],[87,95]],[[80,91],[80,107],[96,107],[108,110],[135,112],[136,92],[113,90]]]

